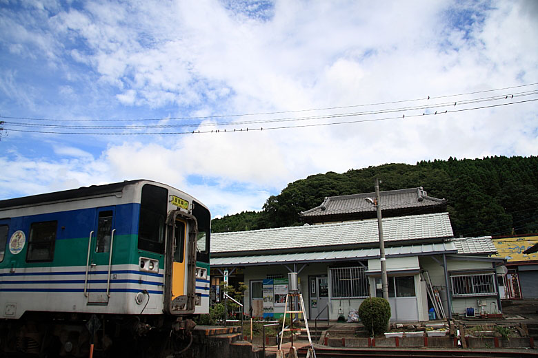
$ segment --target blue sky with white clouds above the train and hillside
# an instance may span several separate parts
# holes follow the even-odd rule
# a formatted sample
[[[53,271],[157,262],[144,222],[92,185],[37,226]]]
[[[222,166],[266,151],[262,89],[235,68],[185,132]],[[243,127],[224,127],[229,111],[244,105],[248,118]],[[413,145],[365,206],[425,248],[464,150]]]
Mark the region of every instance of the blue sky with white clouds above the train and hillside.
[[[315,173],[537,155],[537,38],[532,0],[2,0],[0,198],[147,178],[217,216]]]

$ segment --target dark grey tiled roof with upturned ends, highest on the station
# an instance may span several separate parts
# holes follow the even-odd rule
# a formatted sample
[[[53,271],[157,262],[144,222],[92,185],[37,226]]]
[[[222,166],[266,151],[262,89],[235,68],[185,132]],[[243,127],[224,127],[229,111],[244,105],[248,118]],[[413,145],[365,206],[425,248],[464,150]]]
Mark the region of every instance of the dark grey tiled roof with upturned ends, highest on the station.
[[[379,192],[381,209],[405,209],[432,207],[446,204],[447,200],[432,198],[426,195],[422,187],[399,189]],[[362,213],[376,211],[374,205],[366,202],[365,198],[375,198],[375,193],[361,193],[346,196],[330,196],[319,207],[303,211],[301,216],[315,217],[322,215],[338,215],[344,213]]]

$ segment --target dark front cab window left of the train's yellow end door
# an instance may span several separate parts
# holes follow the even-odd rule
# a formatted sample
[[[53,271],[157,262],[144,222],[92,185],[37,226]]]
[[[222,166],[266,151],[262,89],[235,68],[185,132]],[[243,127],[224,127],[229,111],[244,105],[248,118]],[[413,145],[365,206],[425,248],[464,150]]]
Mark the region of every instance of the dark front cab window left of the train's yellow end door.
[[[142,187],[138,227],[139,249],[155,253],[164,253],[164,231],[166,228],[167,207],[167,189],[150,184],[146,184]]]

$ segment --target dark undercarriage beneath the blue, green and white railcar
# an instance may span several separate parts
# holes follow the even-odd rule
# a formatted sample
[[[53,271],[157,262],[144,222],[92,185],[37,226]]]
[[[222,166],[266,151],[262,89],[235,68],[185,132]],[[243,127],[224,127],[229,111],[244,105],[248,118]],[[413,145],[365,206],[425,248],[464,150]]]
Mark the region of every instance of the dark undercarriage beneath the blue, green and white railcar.
[[[28,312],[0,321],[2,357],[174,357],[192,344],[190,318]]]

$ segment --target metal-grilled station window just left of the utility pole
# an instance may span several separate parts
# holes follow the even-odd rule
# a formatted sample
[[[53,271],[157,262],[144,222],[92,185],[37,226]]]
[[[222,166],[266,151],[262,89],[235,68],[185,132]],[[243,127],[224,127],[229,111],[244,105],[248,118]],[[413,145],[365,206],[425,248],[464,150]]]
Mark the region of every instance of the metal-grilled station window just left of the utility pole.
[[[361,266],[330,268],[332,298],[368,297],[368,277]]]

